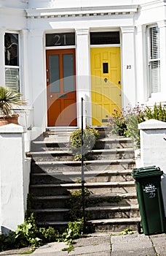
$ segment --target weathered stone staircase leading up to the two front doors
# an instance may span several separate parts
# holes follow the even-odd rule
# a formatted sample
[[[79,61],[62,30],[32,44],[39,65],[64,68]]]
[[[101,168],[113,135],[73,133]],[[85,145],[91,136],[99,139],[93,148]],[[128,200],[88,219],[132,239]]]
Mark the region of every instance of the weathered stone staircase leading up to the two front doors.
[[[81,162],[74,161],[66,148],[71,132],[50,130],[32,142],[30,193],[38,225],[63,229],[71,220],[68,202],[73,192],[82,189]],[[132,143],[130,138],[108,137],[107,133],[100,129],[96,147],[84,161],[87,224],[92,230],[135,230],[140,217],[131,175],[135,167]]]

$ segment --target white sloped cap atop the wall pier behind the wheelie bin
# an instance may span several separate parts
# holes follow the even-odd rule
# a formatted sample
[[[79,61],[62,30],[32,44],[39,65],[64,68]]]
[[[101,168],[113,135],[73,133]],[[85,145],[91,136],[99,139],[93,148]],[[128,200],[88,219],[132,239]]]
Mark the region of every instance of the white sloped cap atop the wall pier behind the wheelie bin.
[[[138,124],[138,129],[166,129],[166,123],[156,119],[150,119]]]

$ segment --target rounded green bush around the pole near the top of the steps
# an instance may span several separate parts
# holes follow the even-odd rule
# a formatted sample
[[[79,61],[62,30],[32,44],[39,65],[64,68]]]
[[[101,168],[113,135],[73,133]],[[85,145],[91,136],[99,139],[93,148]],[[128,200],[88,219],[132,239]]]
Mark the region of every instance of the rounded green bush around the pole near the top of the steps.
[[[86,159],[86,154],[90,149],[95,147],[96,140],[98,140],[98,130],[94,128],[87,127],[83,130],[83,151],[84,159]],[[75,161],[82,159],[82,129],[76,129],[70,135],[69,148],[75,154]]]

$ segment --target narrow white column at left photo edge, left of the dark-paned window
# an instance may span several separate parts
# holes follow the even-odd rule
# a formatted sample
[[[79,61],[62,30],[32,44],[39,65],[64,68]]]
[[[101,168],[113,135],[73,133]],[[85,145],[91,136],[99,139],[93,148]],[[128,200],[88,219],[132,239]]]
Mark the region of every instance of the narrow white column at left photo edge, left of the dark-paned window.
[[[0,61],[0,85],[4,86],[5,85],[5,69],[4,69],[4,34],[5,30],[0,29],[0,56],[1,56],[1,61]]]

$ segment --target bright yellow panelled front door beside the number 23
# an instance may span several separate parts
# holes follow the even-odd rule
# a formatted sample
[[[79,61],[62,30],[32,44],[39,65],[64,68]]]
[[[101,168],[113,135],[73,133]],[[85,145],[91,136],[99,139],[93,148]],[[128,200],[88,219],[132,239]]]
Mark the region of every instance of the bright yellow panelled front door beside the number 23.
[[[92,125],[106,125],[121,110],[120,48],[91,48]]]

